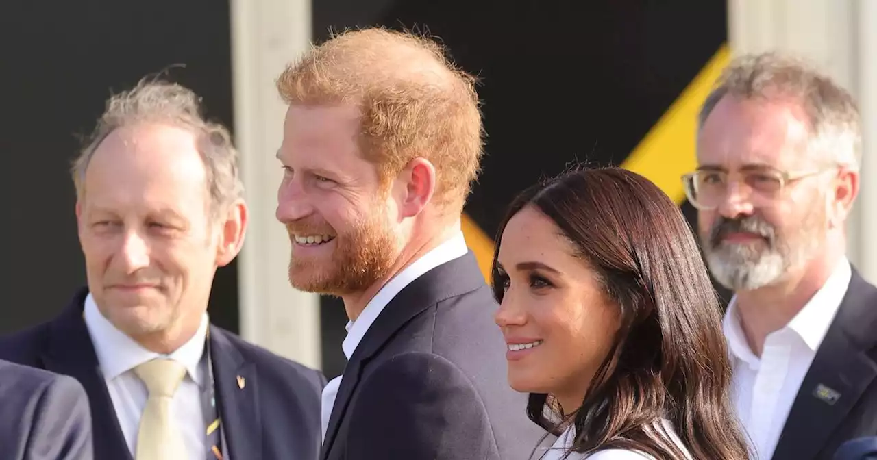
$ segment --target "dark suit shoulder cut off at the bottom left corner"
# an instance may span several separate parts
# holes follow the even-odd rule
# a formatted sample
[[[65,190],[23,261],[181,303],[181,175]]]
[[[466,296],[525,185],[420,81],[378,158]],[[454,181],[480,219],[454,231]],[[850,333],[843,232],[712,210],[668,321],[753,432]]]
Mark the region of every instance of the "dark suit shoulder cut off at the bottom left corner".
[[[8,460],[91,460],[89,399],[75,379],[0,361],[0,449]]]

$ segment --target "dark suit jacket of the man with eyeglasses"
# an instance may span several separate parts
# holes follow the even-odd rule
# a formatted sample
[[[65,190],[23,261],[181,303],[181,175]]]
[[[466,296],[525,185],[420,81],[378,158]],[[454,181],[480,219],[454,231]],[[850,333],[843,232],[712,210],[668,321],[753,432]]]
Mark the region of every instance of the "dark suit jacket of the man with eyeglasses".
[[[877,435],[877,287],[856,272],[789,411],[774,460],[831,460]]]

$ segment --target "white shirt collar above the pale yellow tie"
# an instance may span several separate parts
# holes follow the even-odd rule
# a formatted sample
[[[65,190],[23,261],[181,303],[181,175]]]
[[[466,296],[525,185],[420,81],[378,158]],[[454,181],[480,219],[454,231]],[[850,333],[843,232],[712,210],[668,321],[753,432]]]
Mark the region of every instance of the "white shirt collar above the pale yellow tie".
[[[204,342],[207,339],[207,328],[210,320],[206,313],[201,318],[201,324],[196,333],[188,342],[176,349],[169,355],[161,355],[154,351],[146,350],[131,337],[117,329],[107,320],[100,310],[97,309],[94,297],[89,293],[85,298],[85,325],[89,329],[91,343],[94,343],[97,361],[100,363],[103,377],[106,381],[116,379],[125,372],[132,370],[139,364],[146,363],[156,357],[168,357],[186,367],[189,377],[198,386],[203,383],[201,358],[204,352]]]

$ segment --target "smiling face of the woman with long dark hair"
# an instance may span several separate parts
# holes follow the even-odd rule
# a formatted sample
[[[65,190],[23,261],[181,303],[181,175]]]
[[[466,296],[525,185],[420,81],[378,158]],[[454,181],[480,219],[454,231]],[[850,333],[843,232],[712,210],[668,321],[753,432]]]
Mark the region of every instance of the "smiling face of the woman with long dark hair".
[[[620,310],[553,221],[527,206],[500,241],[496,324],[508,344],[509,385],[549,393],[570,413],[581,406],[610,351]]]

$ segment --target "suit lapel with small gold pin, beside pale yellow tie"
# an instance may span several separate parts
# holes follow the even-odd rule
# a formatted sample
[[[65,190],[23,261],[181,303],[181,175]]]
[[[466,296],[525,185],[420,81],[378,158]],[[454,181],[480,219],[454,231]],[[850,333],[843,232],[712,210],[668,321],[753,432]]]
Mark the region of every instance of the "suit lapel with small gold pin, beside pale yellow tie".
[[[258,376],[254,363],[247,362],[225,331],[210,326],[210,357],[213,364],[217,406],[232,460],[261,458],[262,426]]]

